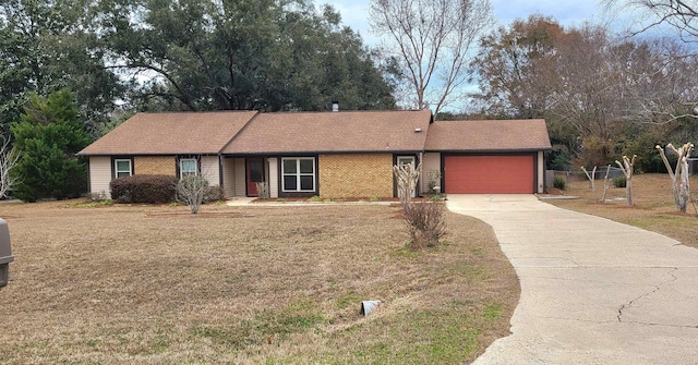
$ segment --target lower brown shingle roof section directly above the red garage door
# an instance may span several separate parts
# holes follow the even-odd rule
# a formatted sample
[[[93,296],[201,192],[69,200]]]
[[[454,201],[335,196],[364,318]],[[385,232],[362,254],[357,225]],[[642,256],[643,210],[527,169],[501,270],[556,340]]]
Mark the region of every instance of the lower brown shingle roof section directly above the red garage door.
[[[545,121],[441,121],[429,127],[429,151],[525,151],[551,149]]]

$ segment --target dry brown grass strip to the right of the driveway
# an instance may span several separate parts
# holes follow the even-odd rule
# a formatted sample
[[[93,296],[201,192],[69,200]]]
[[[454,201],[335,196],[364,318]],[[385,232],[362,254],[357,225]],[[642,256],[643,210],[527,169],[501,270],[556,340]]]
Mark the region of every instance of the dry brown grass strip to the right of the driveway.
[[[696,197],[698,177],[690,179],[693,196]],[[597,181],[597,198],[603,194],[603,182]],[[594,202],[588,180],[568,182],[564,195],[581,196],[575,200],[545,200],[558,207],[600,216],[622,223],[662,233],[685,245],[698,247],[698,219],[689,204],[686,214],[676,212],[667,174],[637,174],[633,177],[633,199],[628,207],[624,187],[611,187],[606,203]],[[610,233],[611,234],[611,233]]]

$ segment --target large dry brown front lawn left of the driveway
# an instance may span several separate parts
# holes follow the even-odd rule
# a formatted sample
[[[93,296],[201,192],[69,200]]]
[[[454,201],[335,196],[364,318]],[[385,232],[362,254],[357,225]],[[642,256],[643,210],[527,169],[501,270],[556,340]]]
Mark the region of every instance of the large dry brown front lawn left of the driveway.
[[[413,253],[395,207],[202,211],[0,205],[0,363],[453,364],[508,333],[518,279],[481,221]]]

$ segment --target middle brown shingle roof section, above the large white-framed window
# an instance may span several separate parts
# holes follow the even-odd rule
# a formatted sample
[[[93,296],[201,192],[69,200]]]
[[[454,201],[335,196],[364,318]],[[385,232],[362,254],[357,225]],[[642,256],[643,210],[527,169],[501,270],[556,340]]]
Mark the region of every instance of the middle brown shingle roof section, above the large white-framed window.
[[[430,110],[261,113],[224,154],[416,151],[430,121]]]

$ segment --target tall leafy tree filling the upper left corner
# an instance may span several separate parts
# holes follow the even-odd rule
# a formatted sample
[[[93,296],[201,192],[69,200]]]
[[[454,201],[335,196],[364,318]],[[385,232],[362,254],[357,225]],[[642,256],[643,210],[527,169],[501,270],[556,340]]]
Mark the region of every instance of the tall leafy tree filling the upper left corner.
[[[98,136],[124,85],[104,65],[91,0],[0,2],[0,132],[31,94],[74,93],[80,120]]]

